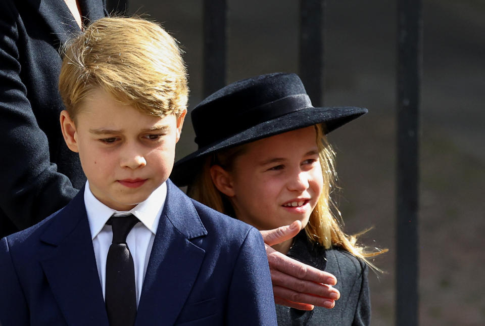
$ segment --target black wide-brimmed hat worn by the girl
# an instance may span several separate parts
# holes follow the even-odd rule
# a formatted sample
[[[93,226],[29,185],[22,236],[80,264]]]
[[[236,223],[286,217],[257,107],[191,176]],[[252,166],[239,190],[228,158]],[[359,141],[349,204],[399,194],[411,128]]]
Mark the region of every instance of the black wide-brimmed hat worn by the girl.
[[[356,107],[313,107],[296,74],[236,81],[192,110],[199,149],[175,163],[170,179],[179,187],[187,185],[208,154],[318,123],[328,133],[365,113],[367,109]]]

